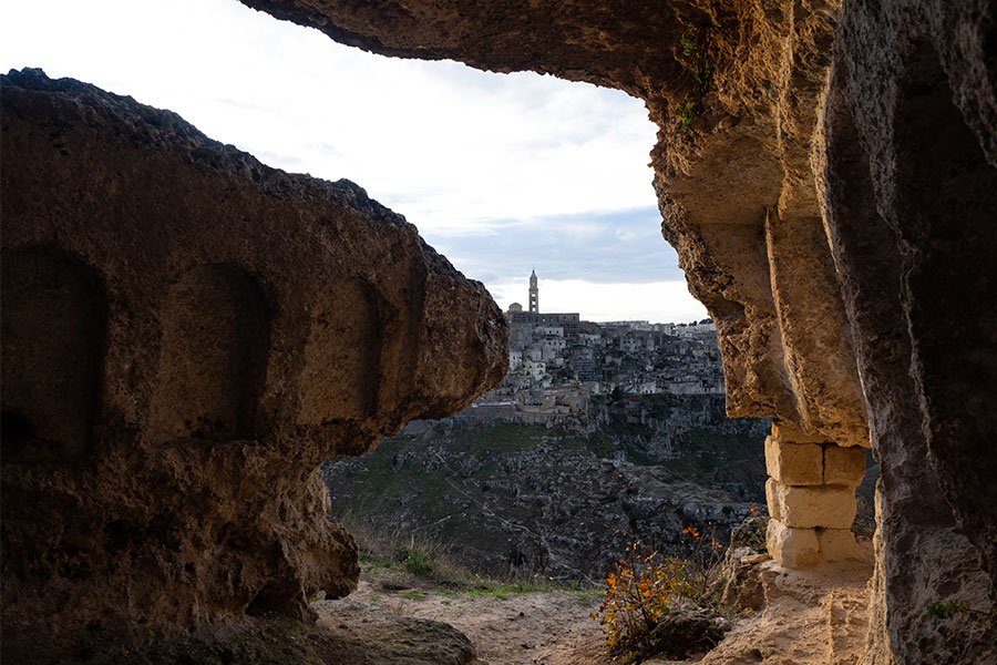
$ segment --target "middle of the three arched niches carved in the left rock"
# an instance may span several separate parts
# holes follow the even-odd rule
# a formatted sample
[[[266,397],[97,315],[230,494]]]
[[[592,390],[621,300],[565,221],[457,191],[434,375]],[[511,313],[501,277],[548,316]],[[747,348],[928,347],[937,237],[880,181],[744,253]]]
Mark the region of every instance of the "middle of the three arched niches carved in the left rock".
[[[256,280],[226,264],[187,270],[169,288],[160,319],[154,440],[254,438],[269,348]]]

